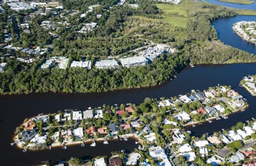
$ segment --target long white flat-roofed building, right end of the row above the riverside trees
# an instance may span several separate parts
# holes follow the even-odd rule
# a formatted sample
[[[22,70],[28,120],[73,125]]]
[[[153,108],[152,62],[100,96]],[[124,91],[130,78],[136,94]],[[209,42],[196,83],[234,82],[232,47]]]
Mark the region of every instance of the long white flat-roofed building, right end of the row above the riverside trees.
[[[138,67],[148,63],[148,60],[144,56],[127,57],[125,59],[120,59],[120,61],[124,68]]]

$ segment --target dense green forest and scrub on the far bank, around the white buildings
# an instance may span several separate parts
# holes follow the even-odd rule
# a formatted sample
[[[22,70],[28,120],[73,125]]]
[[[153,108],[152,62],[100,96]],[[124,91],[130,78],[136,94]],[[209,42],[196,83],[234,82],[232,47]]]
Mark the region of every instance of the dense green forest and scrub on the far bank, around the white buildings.
[[[0,93],[16,94],[31,92],[102,92],[122,88],[155,86],[170,80],[189,63],[243,63],[255,62],[256,57],[217,41],[216,31],[210,22],[217,18],[236,15],[235,10],[207,3],[188,2],[187,26],[178,27],[162,22],[163,11],[153,1],[126,1],[137,3],[138,8],[116,5],[117,1],[60,1],[63,10],[52,9],[45,15],[31,11],[14,12],[7,5],[0,14],[0,40],[5,39],[7,30],[13,40],[7,44],[15,47],[47,48],[45,55],[31,55],[37,60],[31,64],[16,61],[15,57],[27,58],[26,53],[9,52],[1,49],[1,59],[6,62],[5,72],[0,73]],[[89,6],[93,11],[87,12]],[[181,4],[182,5],[182,4]],[[171,5],[170,5],[171,6]],[[38,11],[46,10],[44,7]],[[79,14],[77,14],[79,13]],[[81,17],[81,14],[86,14]],[[101,14],[100,18],[96,15]],[[171,13],[170,15],[179,15]],[[138,18],[139,17],[139,18]],[[141,19],[142,18],[142,19]],[[15,21],[16,20],[16,21]],[[53,22],[53,28],[43,28],[44,20]],[[18,24],[30,22],[30,32],[17,30]],[[96,22],[97,27],[85,34],[77,33],[86,23]],[[17,35],[17,33],[19,35]],[[52,36],[56,34],[57,37]],[[163,54],[151,64],[138,68],[116,70],[90,70],[83,68],[39,69],[52,56],[67,56],[71,60],[106,59],[135,55],[131,50],[152,43],[166,43],[177,48],[177,53]]]

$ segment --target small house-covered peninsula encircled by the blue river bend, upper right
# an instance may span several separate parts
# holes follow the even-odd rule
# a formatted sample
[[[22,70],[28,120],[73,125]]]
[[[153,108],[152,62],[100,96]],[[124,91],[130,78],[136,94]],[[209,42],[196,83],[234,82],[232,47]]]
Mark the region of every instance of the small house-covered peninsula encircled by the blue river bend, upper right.
[[[233,24],[233,30],[243,40],[256,44],[256,22],[241,21]]]

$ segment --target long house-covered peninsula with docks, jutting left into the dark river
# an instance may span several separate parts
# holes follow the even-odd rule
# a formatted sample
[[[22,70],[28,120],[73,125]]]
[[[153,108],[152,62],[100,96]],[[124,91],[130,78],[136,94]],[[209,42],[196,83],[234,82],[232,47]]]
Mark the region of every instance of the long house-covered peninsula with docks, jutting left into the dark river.
[[[14,143],[20,148],[39,150],[46,147],[93,142],[95,140],[141,138],[143,128],[152,123],[170,129],[196,123],[212,122],[213,119],[228,118],[229,114],[243,111],[248,106],[243,97],[230,86],[216,86],[168,99],[146,98],[140,105],[129,104],[91,108],[88,110],[65,110],[58,113],[25,119],[16,128]],[[160,138],[154,134],[144,138]],[[164,145],[164,142],[162,142]]]

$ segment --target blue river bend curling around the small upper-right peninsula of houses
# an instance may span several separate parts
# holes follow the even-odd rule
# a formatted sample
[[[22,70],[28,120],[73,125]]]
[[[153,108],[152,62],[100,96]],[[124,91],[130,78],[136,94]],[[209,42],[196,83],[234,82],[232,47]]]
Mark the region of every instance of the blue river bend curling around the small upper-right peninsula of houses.
[[[212,26],[216,28],[218,39],[221,40],[221,42],[256,55],[256,45],[243,40],[232,29],[234,23],[242,20],[256,21],[256,16],[238,15],[230,18],[221,18],[214,21]]]

